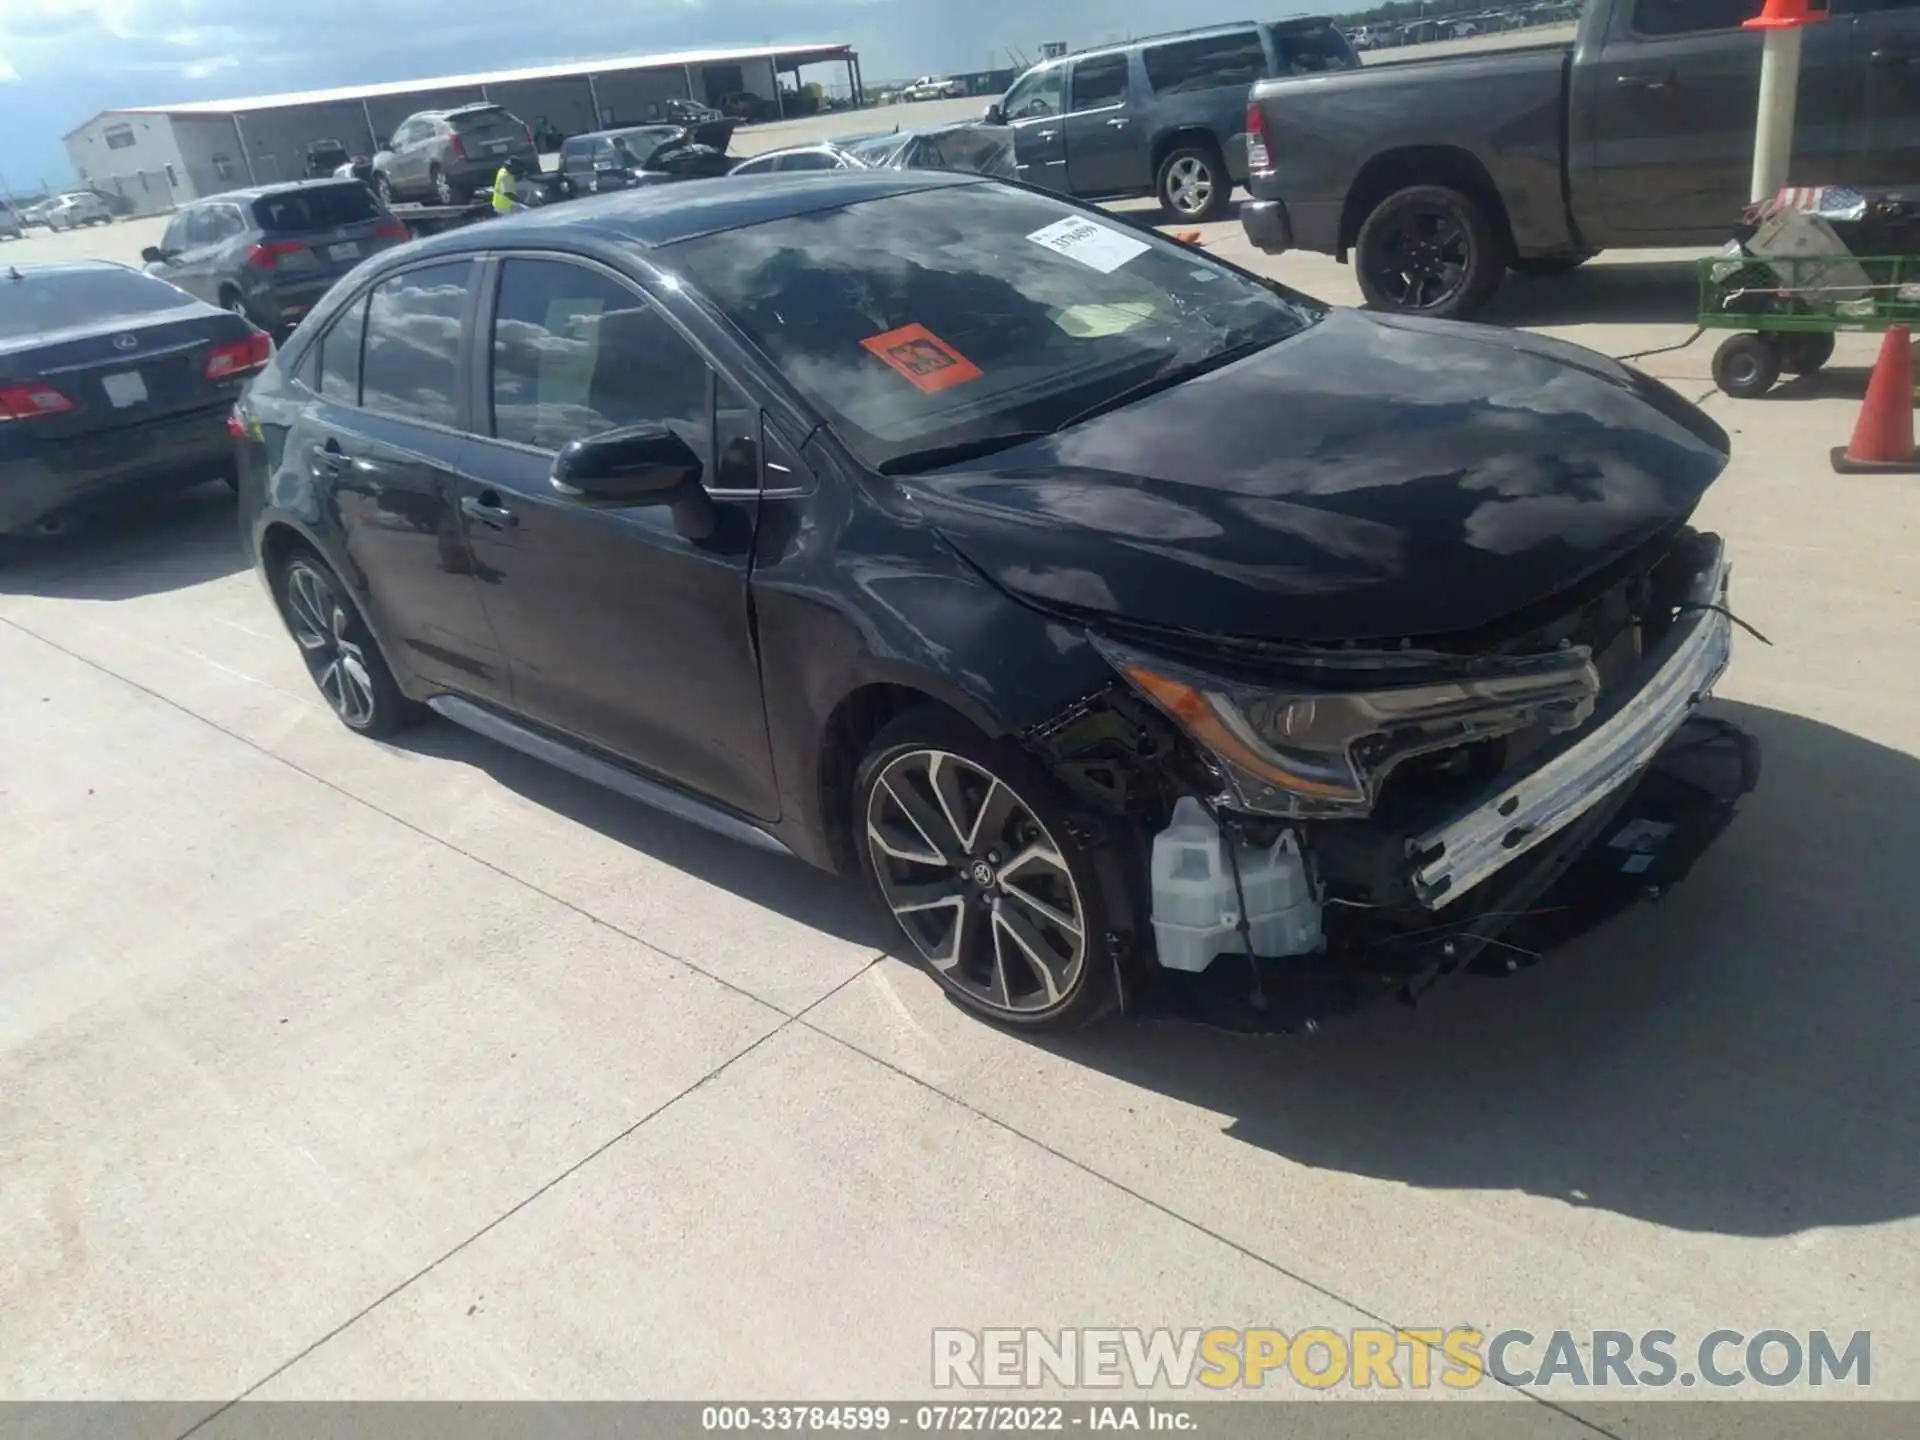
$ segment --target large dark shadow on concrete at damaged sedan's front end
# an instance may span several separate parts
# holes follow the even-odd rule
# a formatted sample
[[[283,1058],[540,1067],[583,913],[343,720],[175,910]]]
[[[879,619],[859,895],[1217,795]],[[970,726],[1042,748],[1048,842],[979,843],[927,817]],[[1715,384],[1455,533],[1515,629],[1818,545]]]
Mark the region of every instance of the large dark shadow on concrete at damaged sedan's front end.
[[[1778,1236],[1920,1213],[1920,760],[1716,705],[1759,789],[1686,883],[1515,977],[1317,1035],[1050,1043],[1315,1169]]]

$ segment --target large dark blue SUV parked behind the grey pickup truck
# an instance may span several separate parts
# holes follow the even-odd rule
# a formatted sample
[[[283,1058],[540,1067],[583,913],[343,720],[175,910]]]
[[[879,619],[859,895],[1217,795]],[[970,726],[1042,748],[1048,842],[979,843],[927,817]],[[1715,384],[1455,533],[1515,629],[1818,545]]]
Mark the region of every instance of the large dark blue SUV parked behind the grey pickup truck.
[[[1210,221],[1246,180],[1248,88],[1357,65],[1325,15],[1215,25],[1048,60],[987,119],[1014,127],[1029,184],[1102,200],[1152,194],[1173,219]]]

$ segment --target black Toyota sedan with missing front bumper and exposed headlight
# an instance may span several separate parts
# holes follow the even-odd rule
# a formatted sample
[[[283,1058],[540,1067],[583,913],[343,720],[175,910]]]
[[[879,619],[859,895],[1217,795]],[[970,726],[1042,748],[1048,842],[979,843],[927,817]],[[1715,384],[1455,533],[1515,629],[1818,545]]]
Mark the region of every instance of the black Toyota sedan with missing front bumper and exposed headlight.
[[[1699,411],[996,180],[422,240],[240,422],[349,728],[436,710],[864,872],[1010,1025],[1511,968],[1678,877],[1755,774],[1695,714],[1730,653]]]

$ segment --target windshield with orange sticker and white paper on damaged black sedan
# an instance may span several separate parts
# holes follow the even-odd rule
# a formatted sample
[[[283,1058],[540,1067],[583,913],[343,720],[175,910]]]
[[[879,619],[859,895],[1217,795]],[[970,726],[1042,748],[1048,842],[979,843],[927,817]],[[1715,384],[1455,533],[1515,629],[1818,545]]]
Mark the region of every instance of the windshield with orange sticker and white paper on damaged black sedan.
[[[1056,430],[1156,374],[1323,315],[1152,230],[995,182],[766,221],[662,255],[876,468]]]

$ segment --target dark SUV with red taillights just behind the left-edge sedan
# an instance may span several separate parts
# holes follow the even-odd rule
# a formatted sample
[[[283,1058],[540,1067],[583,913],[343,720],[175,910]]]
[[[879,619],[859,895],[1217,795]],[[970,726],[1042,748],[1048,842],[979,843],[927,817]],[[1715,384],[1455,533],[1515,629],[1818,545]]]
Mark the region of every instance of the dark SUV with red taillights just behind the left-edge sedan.
[[[407,227],[359,180],[296,180],[180,205],[146,273],[267,332],[290,330],[334,280]]]

